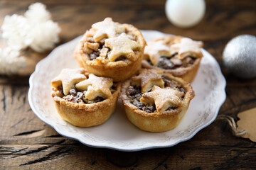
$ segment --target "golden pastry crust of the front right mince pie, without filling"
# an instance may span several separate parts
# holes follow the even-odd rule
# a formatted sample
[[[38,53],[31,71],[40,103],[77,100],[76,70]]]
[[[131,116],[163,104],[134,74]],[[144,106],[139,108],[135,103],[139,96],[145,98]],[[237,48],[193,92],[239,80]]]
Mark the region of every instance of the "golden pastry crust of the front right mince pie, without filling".
[[[162,72],[161,75],[168,77],[168,79],[170,80],[178,82],[182,85],[182,88],[186,90],[186,93],[183,96],[181,106],[178,106],[177,108],[171,110],[163,111],[161,113],[159,113],[158,111],[148,113],[146,111],[142,111],[141,109],[139,109],[132,103],[130,96],[127,95],[127,90],[129,89],[129,86],[131,86],[132,80],[129,79],[127,81],[124,81],[124,83],[122,84],[122,89],[119,98],[122,99],[122,103],[124,104],[124,110],[126,112],[127,118],[141,130],[149,132],[164,132],[175,128],[178,125],[178,123],[180,123],[181,119],[183,118],[183,115],[185,115],[189,103],[195,95],[192,86],[186,81],[183,81],[183,79],[173,77],[169,73]]]

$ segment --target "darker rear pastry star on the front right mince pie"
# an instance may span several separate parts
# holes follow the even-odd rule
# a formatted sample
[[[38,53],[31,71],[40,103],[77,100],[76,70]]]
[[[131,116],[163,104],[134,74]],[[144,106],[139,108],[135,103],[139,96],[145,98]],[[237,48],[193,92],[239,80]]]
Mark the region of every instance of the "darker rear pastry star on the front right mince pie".
[[[142,86],[142,94],[150,91],[155,85],[164,88],[161,74],[157,74],[155,69],[140,69],[139,75],[132,77],[132,84]]]

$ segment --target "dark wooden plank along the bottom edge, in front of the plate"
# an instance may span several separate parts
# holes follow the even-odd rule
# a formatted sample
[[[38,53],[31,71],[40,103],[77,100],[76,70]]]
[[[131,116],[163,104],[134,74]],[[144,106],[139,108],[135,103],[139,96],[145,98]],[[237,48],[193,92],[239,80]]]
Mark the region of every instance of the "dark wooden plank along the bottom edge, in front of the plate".
[[[0,145],[0,147],[0,156],[3,158],[0,159],[0,164],[3,168],[243,169],[246,164],[247,169],[253,169],[256,166],[253,159],[256,157],[255,145],[221,148],[177,146],[142,152],[119,152],[73,145]],[[154,159],[151,159],[152,154]]]

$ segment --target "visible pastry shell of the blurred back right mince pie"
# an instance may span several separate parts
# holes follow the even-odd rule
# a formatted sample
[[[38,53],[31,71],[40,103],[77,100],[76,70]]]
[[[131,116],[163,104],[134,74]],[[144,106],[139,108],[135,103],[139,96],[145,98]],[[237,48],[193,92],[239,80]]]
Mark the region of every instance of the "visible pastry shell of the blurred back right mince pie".
[[[159,67],[149,64],[147,60],[142,60],[142,68],[157,69],[161,72],[170,73],[174,75],[174,77],[181,77],[181,79],[191,83],[196,77],[201,60],[201,58],[196,58],[195,62],[190,67],[177,69],[161,69]]]

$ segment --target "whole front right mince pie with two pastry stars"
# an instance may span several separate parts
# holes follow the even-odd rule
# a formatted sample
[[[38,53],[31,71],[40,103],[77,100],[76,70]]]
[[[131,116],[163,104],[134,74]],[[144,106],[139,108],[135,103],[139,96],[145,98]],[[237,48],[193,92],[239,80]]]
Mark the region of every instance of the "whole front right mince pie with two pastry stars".
[[[194,91],[189,83],[169,73],[140,69],[138,75],[124,81],[119,96],[134,125],[149,132],[164,132],[181,121]]]

